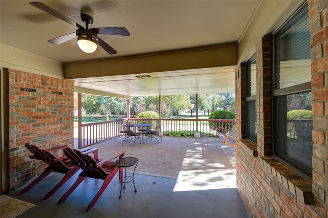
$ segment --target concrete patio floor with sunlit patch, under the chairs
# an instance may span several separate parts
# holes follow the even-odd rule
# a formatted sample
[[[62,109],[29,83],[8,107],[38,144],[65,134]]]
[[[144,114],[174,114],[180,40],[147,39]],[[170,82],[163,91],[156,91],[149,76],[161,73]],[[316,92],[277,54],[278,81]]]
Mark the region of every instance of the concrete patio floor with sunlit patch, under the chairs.
[[[146,141],[145,141],[146,142]],[[136,157],[135,186],[126,184],[119,199],[118,175],[95,206],[87,206],[103,181],[87,178],[69,198],[58,200],[75,182],[78,173],[49,200],[44,195],[63,177],[53,173],[29,192],[10,197],[35,206],[17,217],[249,217],[236,188],[235,148],[218,138],[163,137],[163,141],[123,143],[118,138],[97,143],[99,158],[124,149],[125,157]],[[127,168],[131,175],[133,167]]]

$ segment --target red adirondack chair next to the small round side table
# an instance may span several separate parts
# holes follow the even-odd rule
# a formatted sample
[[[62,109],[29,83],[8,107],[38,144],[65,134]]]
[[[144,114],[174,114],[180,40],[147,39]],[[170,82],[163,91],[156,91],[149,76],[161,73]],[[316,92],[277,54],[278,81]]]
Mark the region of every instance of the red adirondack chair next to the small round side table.
[[[79,174],[73,186],[63,195],[63,197],[59,199],[58,205],[63,203],[86,177],[104,180],[103,185],[89,204],[87,208],[88,212],[95,205],[101,194],[105,191],[109,183],[116,175],[118,167],[114,164],[115,159],[122,158],[125,152],[125,150],[122,150],[105,160],[95,160],[93,157],[83,154],[79,150],[71,149],[68,147],[65,148],[64,154],[70,158],[70,164],[78,166],[83,170],[83,172]],[[121,179],[122,178],[120,177],[120,182]]]

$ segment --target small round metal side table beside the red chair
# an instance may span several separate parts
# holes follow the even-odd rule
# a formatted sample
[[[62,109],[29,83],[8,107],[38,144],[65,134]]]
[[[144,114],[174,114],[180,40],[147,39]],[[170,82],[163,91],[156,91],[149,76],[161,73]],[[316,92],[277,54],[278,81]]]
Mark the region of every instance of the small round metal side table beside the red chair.
[[[133,157],[121,158],[121,159],[118,159],[117,161],[115,161],[115,166],[118,167],[119,178],[120,178],[120,181],[121,181],[121,190],[119,192],[119,197],[118,198],[121,198],[122,183],[124,183],[123,188],[125,188],[125,184],[132,181],[133,186],[134,186],[134,192],[137,192],[137,189],[135,189],[135,185],[134,185],[134,171],[135,171],[135,168],[137,168],[138,163],[139,163],[139,160],[137,158],[133,158]],[[129,166],[135,166],[134,170],[133,170],[132,177],[127,176],[126,169],[123,170],[123,168],[129,167]],[[123,177],[123,171],[125,171],[124,172],[124,177]],[[130,180],[127,181],[127,178],[129,178]],[[123,180],[124,180],[124,182],[123,182]]]

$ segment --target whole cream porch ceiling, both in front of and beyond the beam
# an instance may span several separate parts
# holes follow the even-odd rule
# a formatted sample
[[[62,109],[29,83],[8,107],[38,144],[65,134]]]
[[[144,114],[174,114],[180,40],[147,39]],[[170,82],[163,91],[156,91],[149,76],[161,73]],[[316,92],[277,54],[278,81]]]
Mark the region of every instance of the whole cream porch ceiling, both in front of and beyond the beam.
[[[93,16],[90,28],[126,27],[131,36],[99,35],[118,51],[115,55],[101,47],[92,54],[84,53],[76,39],[61,45],[47,42],[75,32],[76,27],[29,2],[0,1],[0,42],[65,63],[237,42],[261,1],[39,1],[82,26],[81,11]],[[151,77],[76,79],[75,86],[126,96],[234,92],[232,66],[147,75]]]

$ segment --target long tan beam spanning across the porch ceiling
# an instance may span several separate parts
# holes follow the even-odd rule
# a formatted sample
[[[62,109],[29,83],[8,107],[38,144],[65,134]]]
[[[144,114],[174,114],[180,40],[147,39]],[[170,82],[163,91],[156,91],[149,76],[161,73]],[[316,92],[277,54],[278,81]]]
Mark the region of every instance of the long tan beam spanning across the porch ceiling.
[[[237,56],[236,43],[229,43],[129,57],[71,62],[64,64],[64,78],[76,79],[235,66]]]

